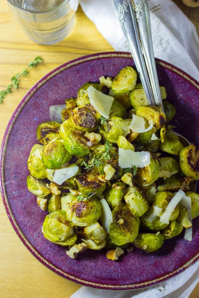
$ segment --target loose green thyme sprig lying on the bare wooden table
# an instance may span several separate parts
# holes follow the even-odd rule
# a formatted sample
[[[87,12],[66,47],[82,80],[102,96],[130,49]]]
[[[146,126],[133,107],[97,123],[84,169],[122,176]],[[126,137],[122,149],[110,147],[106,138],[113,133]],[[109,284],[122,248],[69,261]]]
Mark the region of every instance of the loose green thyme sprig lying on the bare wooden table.
[[[36,67],[37,64],[40,63],[40,62],[42,62],[42,61],[43,60],[42,60],[42,58],[40,56],[39,57],[36,57],[33,61],[31,61],[28,64],[27,68],[25,68],[21,73],[18,73],[15,76],[13,76],[12,79],[11,79],[11,82],[12,83],[7,86],[6,90],[3,90],[3,91],[0,92],[0,103],[3,103],[3,100],[4,100],[4,98],[6,97],[6,95],[8,93],[12,93],[12,90],[11,90],[12,88],[14,88],[15,90],[18,89],[19,82],[20,82],[20,80],[19,80],[20,77],[21,76],[26,77],[28,75],[28,73],[29,73],[28,72],[28,69],[29,68],[33,68],[33,67]]]

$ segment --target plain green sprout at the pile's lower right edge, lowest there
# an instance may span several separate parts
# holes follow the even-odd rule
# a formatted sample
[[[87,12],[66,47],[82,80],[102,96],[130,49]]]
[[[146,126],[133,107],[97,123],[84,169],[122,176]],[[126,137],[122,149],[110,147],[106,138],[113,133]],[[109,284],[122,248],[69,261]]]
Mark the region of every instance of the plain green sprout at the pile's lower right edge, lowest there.
[[[155,252],[160,249],[164,242],[164,235],[162,234],[138,234],[133,241],[133,245],[144,252]]]

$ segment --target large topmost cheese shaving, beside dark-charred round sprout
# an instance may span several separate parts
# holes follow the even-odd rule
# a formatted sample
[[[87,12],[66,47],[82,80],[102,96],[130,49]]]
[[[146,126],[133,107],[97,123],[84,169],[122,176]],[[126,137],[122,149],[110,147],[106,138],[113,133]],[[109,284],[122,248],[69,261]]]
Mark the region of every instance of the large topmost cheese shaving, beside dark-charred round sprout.
[[[93,107],[104,118],[108,119],[114,98],[96,90],[92,86],[90,86],[88,88],[88,97],[89,97],[90,103],[93,105]]]

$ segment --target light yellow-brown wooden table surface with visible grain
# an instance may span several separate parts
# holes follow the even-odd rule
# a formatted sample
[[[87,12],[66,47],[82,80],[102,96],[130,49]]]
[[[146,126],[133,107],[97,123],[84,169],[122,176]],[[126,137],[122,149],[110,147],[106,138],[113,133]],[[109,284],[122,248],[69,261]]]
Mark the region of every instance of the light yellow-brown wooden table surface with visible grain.
[[[175,2],[199,28],[195,9],[186,8],[181,1]],[[199,10],[198,10],[199,11]],[[52,46],[42,46],[30,41],[13,18],[6,0],[1,0],[0,10],[0,91],[6,89],[10,78],[23,70],[37,56],[44,62],[31,69],[23,77],[20,88],[4,99],[0,105],[0,139],[17,104],[25,93],[46,73],[74,58],[113,50],[98,32],[81,8],[76,14],[75,28],[68,38]],[[79,285],[56,275],[38,262],[21,243],[14,232],[0,201],[0,297],[69,298]],[[199,284],[190,295],[199,297]]]

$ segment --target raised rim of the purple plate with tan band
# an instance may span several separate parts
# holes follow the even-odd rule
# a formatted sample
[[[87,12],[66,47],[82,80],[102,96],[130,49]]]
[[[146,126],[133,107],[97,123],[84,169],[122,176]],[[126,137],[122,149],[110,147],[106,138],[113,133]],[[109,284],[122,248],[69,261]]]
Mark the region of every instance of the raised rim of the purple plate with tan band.
[[[1,187],[1,195],[2,195],[4,209],[7,213],[7,216],[10,220],[11,225],[13,226],[13,229],[15,230],[16,234],[18,235],[19,239],[26,246],[26,248],[43,265],[45,265],[47,268],[49,268],[50,270],[52,270],[56,274],[60,275],[61,277],[64,277],[67,280],[71,280],[75,283],[78,283],[78,284],[81,284],[81,285],[84,285],[84,286],[90,286],[90,287],[93,287],[93,288],[100,288],[100,289],[107,289],[107,290],[132,290],[132,289],[145,288],[145,287],[155,285],[157,283],[165,281],[165,280],[167,280],[167,279],[181,273],[186,268],[193,265],[199,259],[199,253],[197,255],[195,255],[195,257],[190,259],[187,263],[185,263],[183,266],[179,267],[178,269],[176,269],[176,270],[174,270],[174,271],[172,271],[168,274],[165,274],[161,277],[158,277],[154,280],[150,280],[150,281],[146,281],[146,282],[142,282],[142,283],[136,283],[136,284],[134,283],[134,284],[127,284],[127,285],[109,285],[109,284],[103,284],[103,283],[93,283],[91,281],[79,279],[78,277],[67,274],[66,272],[60,270],[59,268],[57,268],[56,266],[54,266],[53,264],[48,262],[45,258],[43,258],[37,252],[37,250],[30,244],[30,242],[27,241],[27,239],[23,235],[21,229],[17,225],[17,223],[15,221],[15,218],[12,214],[12,211],[10,209],[9,202],[7,200],[6,191],[5,191],[4,173],[3,173],[4,153],[5,153],[5,150],[6,150],[7,141],[8,141],[10,132],[12,130],[12,127],[13,127],[13,125],[15,123],[15,120],[18,117],[18,114],[20,113],[21,109],[28,102],[28,100],[31,98],[31,96],[36,92],[36,90],[38,90],[51,77],[57,75],[59,72],[62,72],[64,69],[70,68],[71,66],[83,63],[85,61],[95,60],[95,59],[99,59],[99,58],[111,58],[111,57],[129,58],[129,57],[132,57],[132,55],[129,52],[100,52],[100,53],[96,53],[96,54],[90,54],[90,55],[82,56],[82,57],[76,58],[74,60],[70,60],[69,62],[61,64],[60,66],[58,66],[57,68],[55,68],[51,72],[47,73],[37,83],[35,83],[33,85],[33,87],[25,94],[23,99],[17,105],[14,113],[12,114],[12,116],[11,116],[9,122],[8,122],[8,125],[6,127],[4,136],[3,136],[3,140],[2,140],[2,144],[1,144],[1,152],[0,152],[0,180],[1,180],[0,181],[0,187]],[[159,65],[161,65],[161,66],[163,66],[163,67],[177,73],[178,75],[181,75],[187,81],[192,83],[193,86],[195,86],[197,89],[199,89],[199,83],[193,77],[191,77],[186,72],[184,72],[183,70],[179,69],[178,67],[176,67],[176,66],[174,66],[174,65],[172,65],[172,64],[170,64],[166,61],[158,59],[158,58],[155,58],[155,62],[156,62],[156,64],[159,64]]]

